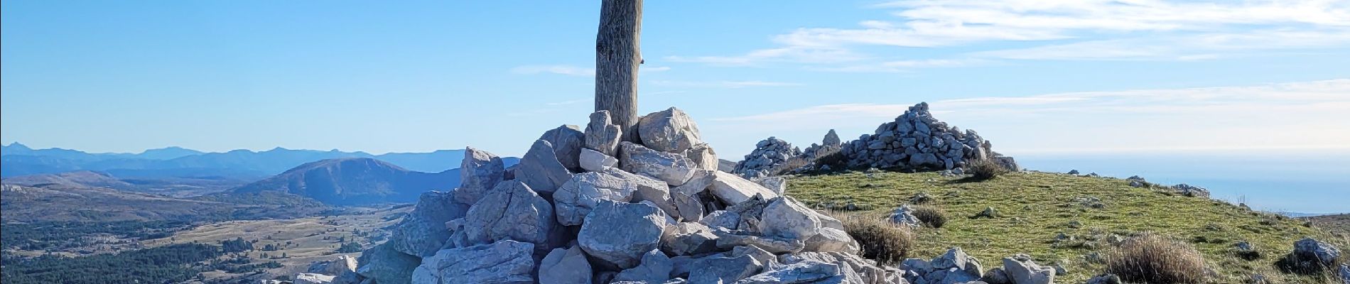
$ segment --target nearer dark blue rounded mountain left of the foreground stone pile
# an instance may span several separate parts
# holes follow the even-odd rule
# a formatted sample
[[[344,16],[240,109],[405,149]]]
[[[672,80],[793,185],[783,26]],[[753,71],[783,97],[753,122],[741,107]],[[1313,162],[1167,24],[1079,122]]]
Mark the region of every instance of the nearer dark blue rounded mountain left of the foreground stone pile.
[[[328,205],[416,202],[429,190],[459,186],[459,170],[409,171],[370,157],[328,159],[301,164],[279,175],[231,190],[231,195],[263,191],[288,192]]]

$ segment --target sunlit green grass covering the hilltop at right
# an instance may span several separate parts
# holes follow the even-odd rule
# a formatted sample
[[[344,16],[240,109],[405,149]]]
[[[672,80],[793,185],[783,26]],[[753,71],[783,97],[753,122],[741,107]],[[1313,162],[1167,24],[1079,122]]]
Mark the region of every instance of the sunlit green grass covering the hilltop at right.
[[[991,180],[969,182],[934,172],[834,174],[791,176],[787,195],[817,209],[884,215],[926,192],[949,215],[941,229],[917,232],[918,246],[910,257],[933,258],[949,246],[960,246],[980,258],[986,269],[1003,257],[1027,253],[1042,265],[1064,264],[1068,275],[1056,283],[1083,283],[1102,273],[1088,254],[1106,256],[1111,244],[1135,233],[1154,232],[1191,242],[1219,273],[1212,283],[1243,283],[1262,273],[1273,283],[1330,283],[1322,276],[1280,273],[1274,262],[1303,237],[1350,248],[1350,238],[1305,227],[1303,221],[1250,211],[1235,205],[1187,198],[1164,190],[1130,187],[1123,179],[1081,178],[1062,174],[1011,172]],[[1098,198],[1089,206],[1080,198]],[[969,218],[994,207],[998,218]],[[1056,236],[1073,240],[1057,241]],[[1261,258],[1242,260],[1234,253],[1238,241],[1251,242]]]

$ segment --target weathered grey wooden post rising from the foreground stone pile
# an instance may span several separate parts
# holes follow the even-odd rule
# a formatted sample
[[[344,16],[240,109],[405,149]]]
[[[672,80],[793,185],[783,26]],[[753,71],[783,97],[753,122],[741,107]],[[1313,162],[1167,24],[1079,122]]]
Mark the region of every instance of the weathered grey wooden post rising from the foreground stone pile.
[[[602,0],[595,35],[595,110],[609,110],[624,129],[624,141],[637,141],[637,65],[643,54],[643,0]]]

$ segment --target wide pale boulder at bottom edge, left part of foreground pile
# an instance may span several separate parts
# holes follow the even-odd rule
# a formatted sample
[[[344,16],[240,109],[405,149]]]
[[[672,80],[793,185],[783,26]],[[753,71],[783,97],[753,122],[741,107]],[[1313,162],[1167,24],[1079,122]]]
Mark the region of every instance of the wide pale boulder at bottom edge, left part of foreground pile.
[[[509,240],[441,249],[435,256],[423,258],[423,264],[413,271],[412,283],[535,283],[535,258],[531,257],[533,252],[533,244]]]

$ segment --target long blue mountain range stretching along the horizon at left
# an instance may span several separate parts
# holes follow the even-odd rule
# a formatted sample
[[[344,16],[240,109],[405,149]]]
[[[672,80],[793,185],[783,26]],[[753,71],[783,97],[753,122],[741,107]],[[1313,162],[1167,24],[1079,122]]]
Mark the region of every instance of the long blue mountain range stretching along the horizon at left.
[[[373,157],[398,167],[440,172],[459,167],[463,149],[427,153],[383,153],[274,148],[262,152],[235,149],[201,152],[180,147],[147,149],[140,153],[89,153],[77,149],[32,149],[14,143],[0,147],[0,176],[101,171],[119,178],[265,178],[309,162],[342,157]]]

